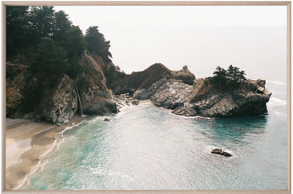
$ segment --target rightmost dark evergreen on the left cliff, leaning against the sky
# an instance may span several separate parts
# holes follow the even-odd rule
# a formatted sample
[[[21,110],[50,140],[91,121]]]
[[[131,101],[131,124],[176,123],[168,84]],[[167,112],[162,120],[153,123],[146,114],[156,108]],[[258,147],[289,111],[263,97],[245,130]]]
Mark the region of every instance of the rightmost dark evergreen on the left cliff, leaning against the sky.
[[[112,54],[109,51],[110,41],[106,41],[102,33],[99,32],[98,26],[90,26],[86,30],[85,36],[88,44],[88,51],[100,56],[105,63],[112,62]]]

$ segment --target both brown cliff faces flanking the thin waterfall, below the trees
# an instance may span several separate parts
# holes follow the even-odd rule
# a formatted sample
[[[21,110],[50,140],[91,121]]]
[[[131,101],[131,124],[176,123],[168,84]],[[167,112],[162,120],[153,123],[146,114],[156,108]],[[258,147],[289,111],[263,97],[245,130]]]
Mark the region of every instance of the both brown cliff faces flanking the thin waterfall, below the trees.
[[[100,67],[102,60],[84,54],[79,63],[82,71],[75,81],[84,113],[117,113],[117,104]],[[66,74],[34,73],[28,66],[6,64],[6,117],[65,125],[78,107],[80,111],[74,81]]]

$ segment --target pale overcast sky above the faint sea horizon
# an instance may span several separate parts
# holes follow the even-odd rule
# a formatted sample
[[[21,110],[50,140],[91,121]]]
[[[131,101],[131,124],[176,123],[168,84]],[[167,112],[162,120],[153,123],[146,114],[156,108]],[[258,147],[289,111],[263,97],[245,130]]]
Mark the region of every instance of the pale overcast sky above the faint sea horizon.
[[[286,26],[286,6],[55,6],[85,30],[119,27]]]

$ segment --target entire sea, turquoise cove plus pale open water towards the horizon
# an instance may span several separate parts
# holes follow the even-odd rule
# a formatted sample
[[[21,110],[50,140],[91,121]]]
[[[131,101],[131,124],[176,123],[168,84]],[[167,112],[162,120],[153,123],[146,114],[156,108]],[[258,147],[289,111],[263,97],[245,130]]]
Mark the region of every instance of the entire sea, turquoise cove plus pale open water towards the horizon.
[[[144,50],[123,58],[113,50],[113,62],[126,73],[156,62],[171,70],[188,65],[196,78],[232,64],[266,80],[268,115],[184,117],[149,103],[123,107],[110,122],[87,116],[55,136],[17,189],[286,189],[286,28],[193,28],[186,40],[173,39],[178,47],[170,46],[170,33],[158,45],[163,58]],[[158,49],[148,39],[138,39],[145,51]]]

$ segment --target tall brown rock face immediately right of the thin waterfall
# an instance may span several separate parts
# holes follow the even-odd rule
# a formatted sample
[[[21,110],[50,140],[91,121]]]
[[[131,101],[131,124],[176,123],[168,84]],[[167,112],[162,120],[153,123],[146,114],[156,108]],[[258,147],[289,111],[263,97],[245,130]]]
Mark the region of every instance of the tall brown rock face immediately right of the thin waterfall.
[[[112,92],[106,87],[101,68],[104,66],[102,59],[93,59],[84,53],[79,64],[83,71],[79,72],[75,81],[84,113],[101,116],[117,113],[117,103]]]

